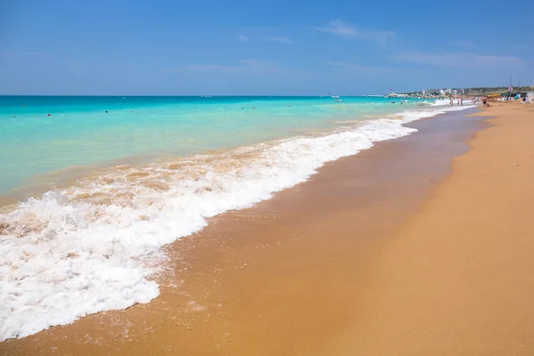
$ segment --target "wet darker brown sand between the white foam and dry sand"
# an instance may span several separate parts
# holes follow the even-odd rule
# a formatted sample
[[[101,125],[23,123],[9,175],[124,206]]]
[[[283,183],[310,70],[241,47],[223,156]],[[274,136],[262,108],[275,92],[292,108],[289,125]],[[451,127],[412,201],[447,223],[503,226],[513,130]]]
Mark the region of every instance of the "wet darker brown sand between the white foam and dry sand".
[[[152,303],[2,346],[12,354],[135,354],[155,347],[164,354],[272,354],[280,347],[303,353],[303,344],[317,343],[307,354],[319,352],[325,330],[335,337],[359,319],[352,298],[359,300],[361,287],[371,282],[373,251],[421,207],[449,173],[450,158],[465,152],[461,142],[470,134],[452,133],[455,125],[449,125],[449,137],[443,136],[447,130],[432,127],[439,122],[447,123],[442,117],[414,122],[419,134],[328,163],[309,182],[254,208],[217,216],[205,231],[169,245],[174,265]],[[465,132],[473,133],[480,120],[469,125]],[[425,133],[434,136],[425,140]],[[425,150],[431,144],[433,150]],[[428,165],[421,164],[424,159]],[[351,224],[358,226],[358,239]]]

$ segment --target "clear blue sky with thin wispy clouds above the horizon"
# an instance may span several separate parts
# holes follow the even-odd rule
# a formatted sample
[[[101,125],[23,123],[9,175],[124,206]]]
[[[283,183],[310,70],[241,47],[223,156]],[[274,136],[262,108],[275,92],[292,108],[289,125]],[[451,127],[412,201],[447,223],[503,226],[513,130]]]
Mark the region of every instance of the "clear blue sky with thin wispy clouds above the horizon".
[[[524,6],[495,0],[0,0],[0,94],[532,85],[531,24]]]

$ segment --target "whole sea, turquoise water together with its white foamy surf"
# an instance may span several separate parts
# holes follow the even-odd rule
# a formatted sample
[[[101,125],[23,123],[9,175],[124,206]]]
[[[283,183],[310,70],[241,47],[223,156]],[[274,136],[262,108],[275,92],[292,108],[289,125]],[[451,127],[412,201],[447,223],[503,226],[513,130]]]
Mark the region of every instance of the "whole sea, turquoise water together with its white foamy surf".
[[[149,303],[164,245],[469,108],[341,100],[0,96],[0,341]]]

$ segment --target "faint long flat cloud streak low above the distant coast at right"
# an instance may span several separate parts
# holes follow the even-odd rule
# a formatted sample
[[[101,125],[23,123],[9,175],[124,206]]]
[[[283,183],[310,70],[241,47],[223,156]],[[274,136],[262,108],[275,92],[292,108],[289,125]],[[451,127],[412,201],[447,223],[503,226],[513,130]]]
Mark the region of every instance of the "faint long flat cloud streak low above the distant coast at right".
[[[475,53],[403,53],[394,56],[397,61],[411,61],[433,67],[502,68],[524,64],[522,59],[511,56],[480,55]]]

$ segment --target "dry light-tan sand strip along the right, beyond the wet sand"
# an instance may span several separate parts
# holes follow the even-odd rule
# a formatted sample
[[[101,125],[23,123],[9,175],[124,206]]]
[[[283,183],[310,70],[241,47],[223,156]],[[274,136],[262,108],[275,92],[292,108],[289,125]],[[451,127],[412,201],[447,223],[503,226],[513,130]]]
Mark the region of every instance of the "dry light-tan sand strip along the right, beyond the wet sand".
[[[534,354],[534,107],[496,118],[384,243],[356,325],[330,354]]]

